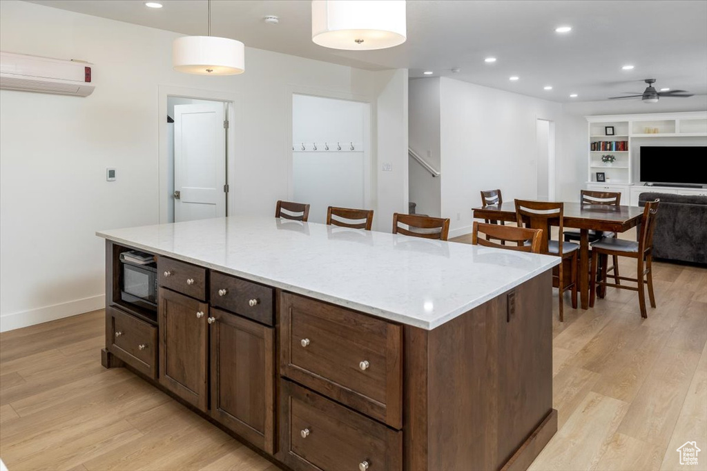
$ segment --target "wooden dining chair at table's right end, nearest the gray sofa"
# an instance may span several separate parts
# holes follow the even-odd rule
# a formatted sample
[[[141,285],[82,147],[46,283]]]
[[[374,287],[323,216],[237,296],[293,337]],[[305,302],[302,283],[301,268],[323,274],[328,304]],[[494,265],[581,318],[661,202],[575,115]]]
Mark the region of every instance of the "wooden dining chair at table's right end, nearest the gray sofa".
[[[660,199],[646,201],[643,208],[643,217],[638,229],[638,242],[624,239],[614,239],[613,237],[602,237],[592,244],[592,277],[590,278],[589,306],[594,307],[595,289],[600,287],[614,287],[621,290],[638,291],[638,306],[641,308],[641,317],[648,318],[645,310],[645,289],[643,285],[648,285],[648,298],[650,307],[655,308],[655,295],[653,294],[653,231],[655,229],[655,215],[658,214]],[[636,278],[626,276],[619,277],[620,280],[636,283],[637,286],[619,285],[618,283],[607,282],[607,264],[600,263],[601,270],[597,268],[599,257],[622,256],[636,259]],[[597,274],[597,271],[599,273]],[[597,279],[598,275],[598,279]],[[644,280],[645,278],[645,280]]]

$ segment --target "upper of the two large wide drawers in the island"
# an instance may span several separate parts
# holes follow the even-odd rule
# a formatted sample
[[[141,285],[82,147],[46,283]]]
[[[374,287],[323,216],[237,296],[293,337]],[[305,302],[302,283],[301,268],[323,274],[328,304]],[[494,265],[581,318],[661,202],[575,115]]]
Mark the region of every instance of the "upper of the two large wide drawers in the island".
[[[282,293],[280,373],[391,427],[402,428],[402,329]]]

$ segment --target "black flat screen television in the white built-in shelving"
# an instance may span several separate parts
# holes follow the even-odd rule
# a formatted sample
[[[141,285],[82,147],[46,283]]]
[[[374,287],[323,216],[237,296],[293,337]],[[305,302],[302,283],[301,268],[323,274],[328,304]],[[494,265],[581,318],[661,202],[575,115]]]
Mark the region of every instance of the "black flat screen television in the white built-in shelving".
[[[707,184],[706,146],[641,145],[641,181],[653,184]]]

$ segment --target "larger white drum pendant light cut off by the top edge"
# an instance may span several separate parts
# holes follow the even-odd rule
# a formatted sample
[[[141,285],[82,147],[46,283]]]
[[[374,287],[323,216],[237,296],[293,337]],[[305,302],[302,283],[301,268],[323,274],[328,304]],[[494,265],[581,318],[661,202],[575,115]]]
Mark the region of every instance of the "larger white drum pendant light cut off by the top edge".
[[[407,39],[405,0],[312,0],[312,41],[332,49],[367,51]]]

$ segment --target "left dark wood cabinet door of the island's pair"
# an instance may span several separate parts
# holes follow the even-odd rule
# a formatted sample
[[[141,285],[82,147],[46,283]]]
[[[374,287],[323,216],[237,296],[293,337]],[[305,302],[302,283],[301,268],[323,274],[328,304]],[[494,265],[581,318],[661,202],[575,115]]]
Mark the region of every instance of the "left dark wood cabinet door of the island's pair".
[[[160,383],[188,403],[208,410],[209,304],[160,288]]]

